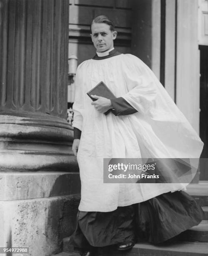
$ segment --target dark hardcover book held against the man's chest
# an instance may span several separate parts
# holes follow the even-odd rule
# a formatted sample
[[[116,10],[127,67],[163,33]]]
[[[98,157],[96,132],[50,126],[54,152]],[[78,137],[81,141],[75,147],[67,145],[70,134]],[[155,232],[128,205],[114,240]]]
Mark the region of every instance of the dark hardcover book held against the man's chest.
[[[96,99],[94,99],[93,97],[91,97],[91,95],[97,95],[97,96],[101,96],[104,98],[107,98],[109,100],[111,99],[115,99],[115,95],[113,94],[113,92],[111,92],[111,90],[106,86],[106,84],[104,84],[103,81],[101,81],[99,84],[97,84],[93,89],[91,89],[89,92],[87,92],[87,95],[90,97],[90,99],[92,99],[93,101],[95,101]],[[106,111],[104,114],[108,115],[108,113],[110,113],[111,109],[109,109],[108,111]]]

